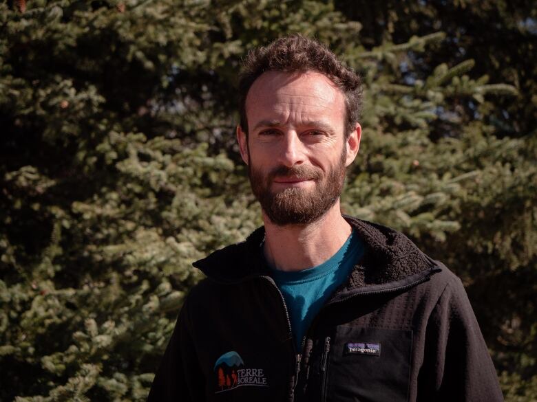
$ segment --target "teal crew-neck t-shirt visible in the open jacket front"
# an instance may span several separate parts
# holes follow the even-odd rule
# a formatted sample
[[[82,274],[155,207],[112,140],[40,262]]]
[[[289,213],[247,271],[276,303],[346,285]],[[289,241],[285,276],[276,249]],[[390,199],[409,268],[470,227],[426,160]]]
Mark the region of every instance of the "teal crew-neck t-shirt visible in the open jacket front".
[[[364,245],[353,230],[337,253],[317,267],[291,272],[272,269],[287,304],[297,350],[302,350],[302,338],[319,309],[348,278],[362,254]]]

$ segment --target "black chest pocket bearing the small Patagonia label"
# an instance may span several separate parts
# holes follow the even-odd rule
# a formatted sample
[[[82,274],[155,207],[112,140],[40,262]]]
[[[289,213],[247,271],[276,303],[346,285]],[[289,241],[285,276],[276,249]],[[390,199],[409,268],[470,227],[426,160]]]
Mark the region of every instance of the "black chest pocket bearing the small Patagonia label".
[[[330,343],[326,401],[408,401],[412,331],[342,325]]]

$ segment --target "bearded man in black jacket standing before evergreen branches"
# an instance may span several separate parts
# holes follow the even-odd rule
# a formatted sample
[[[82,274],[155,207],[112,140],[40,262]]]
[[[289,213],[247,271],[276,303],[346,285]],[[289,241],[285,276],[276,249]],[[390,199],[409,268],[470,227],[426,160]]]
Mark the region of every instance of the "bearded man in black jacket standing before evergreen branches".
[[[264,227],[194,263],[149,401],[502,401],[459,278],[343,216],[361,82],[294,35],[255,49],[237,137]]]

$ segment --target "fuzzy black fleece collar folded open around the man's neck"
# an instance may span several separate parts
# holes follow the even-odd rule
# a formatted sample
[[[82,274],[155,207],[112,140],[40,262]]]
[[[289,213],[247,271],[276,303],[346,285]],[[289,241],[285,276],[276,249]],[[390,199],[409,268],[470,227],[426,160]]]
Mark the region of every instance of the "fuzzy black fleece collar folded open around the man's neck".
[[[436,262],[425,256],[404,234],[351,216],[344,218],[364,242],[365,252],[346,284],[338,289],[340,295],[356,289],[404,286],[439,270]],[[211,280],[222,283],[270,276],[260,249],[263,238],[264,227],[260,227],[246,241],[219,249],[193,266]]]

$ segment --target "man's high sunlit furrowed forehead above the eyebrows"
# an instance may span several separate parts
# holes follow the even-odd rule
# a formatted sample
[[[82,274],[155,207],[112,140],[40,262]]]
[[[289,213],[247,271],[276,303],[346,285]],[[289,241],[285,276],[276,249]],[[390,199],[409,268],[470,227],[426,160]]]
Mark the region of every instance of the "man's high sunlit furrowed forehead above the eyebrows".
[[[249,126],[266,119],[299,123],[324,118],[342,124],[344,113],[343,93],[316,71],[267,71],[253,82],[246,97]]]

